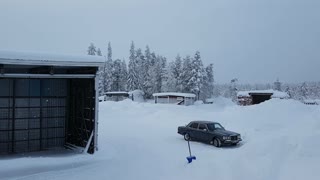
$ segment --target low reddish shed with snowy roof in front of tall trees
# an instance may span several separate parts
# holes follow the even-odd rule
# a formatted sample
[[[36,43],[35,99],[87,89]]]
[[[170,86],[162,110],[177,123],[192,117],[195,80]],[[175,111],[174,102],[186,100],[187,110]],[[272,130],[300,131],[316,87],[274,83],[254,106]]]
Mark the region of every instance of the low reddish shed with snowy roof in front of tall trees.
[[[191,93],[165,92],[155,93],[153,97],[156,104],[163,103],[188,106],[194,104],[196,95]]]

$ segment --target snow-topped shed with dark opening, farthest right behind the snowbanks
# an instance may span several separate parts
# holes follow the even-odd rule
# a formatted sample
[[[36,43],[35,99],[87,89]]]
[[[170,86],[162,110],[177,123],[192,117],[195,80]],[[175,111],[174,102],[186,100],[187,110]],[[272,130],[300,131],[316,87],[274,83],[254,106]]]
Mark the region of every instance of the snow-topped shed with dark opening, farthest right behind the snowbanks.
[[[272,98],[288,99],[289,95],[285,92],[276,90],[252,90],[239,91],[237,93],[239,105],[253,105],[259,104]]]

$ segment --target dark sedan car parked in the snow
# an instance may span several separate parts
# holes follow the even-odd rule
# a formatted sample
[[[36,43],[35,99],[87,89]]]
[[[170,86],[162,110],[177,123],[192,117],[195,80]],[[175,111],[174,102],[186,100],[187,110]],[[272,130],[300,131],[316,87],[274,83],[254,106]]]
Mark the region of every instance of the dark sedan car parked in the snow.
[[[216,147],[237,145],[242,140],[239,133],[227,131],[221,124],[211,121],[192,121],[187,126],[179,126],[178,133],[186,141],[208,142]]]

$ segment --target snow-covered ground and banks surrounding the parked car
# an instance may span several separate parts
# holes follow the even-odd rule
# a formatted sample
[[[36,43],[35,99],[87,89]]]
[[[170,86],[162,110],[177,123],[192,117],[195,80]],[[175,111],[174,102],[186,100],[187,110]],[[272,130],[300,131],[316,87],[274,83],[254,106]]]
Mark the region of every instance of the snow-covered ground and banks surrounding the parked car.
[[[241,133],[237,147],[191,142],[197,160],[187,164],[187,143],[177,127],[191,120],[220,122]],[[0,161],[3,179],[319,179],[320,106],[270,100],[237,106],[100,103],[99,151],[44,154]]]

